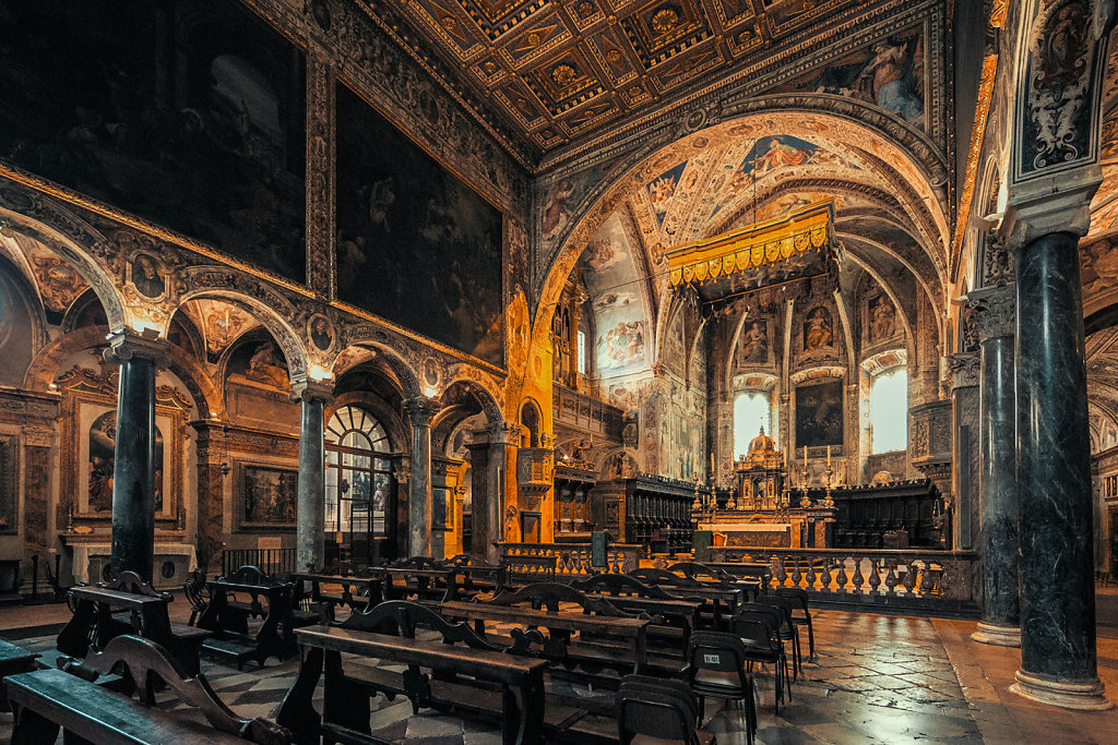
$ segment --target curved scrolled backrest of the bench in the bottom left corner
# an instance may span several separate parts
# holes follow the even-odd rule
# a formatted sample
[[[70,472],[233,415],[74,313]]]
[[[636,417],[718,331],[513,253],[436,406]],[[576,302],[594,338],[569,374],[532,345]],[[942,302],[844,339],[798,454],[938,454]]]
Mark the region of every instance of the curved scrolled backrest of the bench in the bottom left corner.
[[[150,705],[155,703],[153,686],[157,679],[162,680],[174,689],[180,699],[201,710],[215,729],[259,745],[294,742],[291,732],[274,722],[260,717],[238,717],[218,698],[203,675],[188,676],[167,649],[148,639],[132,634],[116,637],[105,646],[104,651],[87,655],[80,668],[86,674],[120,672],[130,677],[140,700]]]

